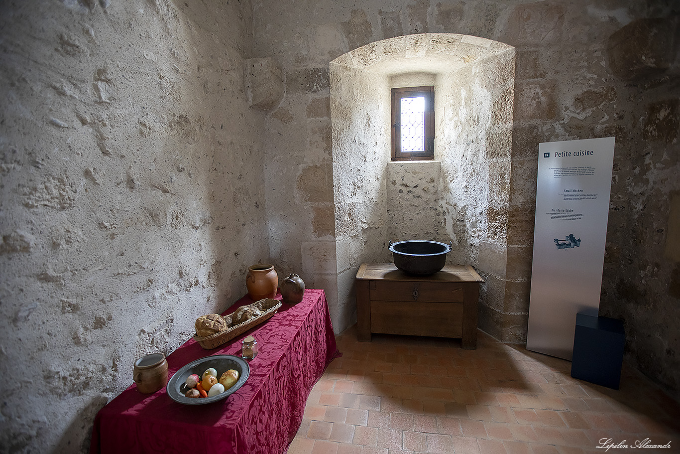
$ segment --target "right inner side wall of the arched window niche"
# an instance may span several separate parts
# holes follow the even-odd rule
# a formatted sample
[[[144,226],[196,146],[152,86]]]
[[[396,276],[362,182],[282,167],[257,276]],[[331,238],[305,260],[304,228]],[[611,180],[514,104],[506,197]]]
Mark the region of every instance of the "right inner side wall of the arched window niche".
[[[455,244],[449,261],[473,265],[486,281],[479,328],[516,342],[521,339],[513,338],[513,327],[524,314],[518,323],[506,291],[515,50],[497,42],[489,46],[500,49],[441,78],[447,88],[439,120],[447,123],[439,145],[445,169],[441,206]],[[462,54],[471,59],[471,52]]]

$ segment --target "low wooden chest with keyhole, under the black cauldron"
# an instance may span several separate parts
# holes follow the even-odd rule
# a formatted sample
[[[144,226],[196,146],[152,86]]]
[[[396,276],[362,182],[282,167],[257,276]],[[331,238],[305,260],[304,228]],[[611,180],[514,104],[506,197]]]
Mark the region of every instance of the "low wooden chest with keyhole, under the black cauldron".
[[[411,276],[394,263],[362,263],[356,274],[358,339],[371,342],[371,333],[439,336],[477,348],[480,282],[469,265]]]

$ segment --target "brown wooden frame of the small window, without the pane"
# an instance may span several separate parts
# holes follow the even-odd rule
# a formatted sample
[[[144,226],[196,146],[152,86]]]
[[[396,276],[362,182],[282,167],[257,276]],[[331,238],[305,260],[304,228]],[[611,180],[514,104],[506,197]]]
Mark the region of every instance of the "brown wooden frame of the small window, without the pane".
[[[401,151],[401,99],[425,97],[425,150]],[[435,159],[435,86],[405,86],[392,88],[392,161],[421,161]]]

